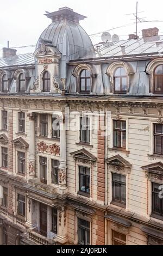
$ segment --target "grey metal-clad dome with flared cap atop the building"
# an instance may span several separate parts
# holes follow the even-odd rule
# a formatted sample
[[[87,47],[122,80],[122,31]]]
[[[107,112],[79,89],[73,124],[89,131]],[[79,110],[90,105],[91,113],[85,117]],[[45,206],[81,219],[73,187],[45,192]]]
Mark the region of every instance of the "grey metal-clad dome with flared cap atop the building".
[[[89,35],[79,25],[79,20],[83,20],[85,16],[74,13],[70,8],[60,8],[59,11],[46,16],[52,19],[52,23],[43,31],[40,39],[49,41],[57,47],[62,57],[65,56],[66,62],[95,56]],[[36,47],[38,46],[39,41]]]

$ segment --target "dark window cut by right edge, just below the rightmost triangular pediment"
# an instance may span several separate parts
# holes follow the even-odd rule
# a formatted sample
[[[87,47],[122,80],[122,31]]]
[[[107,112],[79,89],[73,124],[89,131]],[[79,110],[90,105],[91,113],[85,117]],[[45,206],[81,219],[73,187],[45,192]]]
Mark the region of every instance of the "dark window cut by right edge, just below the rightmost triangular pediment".
[[[159,198],[161,184],[152,182],[152,214],[163,216],[163,200]]]

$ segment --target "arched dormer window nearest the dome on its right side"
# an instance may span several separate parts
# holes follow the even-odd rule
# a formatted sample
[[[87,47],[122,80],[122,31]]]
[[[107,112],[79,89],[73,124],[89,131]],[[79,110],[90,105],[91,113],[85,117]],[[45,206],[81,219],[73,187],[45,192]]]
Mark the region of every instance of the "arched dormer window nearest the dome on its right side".
[[[91,74],[90,71],[84,69],[80,73],[80,92],[89,93],[91,88]]]

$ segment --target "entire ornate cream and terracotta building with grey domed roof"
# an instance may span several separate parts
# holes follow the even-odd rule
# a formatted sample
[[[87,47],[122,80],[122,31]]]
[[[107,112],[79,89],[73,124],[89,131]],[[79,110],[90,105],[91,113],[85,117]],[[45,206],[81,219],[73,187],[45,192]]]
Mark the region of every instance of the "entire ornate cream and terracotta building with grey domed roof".
[[[163,245],[163,36],[95,47],[46,16],[0,58],[0,244]]]

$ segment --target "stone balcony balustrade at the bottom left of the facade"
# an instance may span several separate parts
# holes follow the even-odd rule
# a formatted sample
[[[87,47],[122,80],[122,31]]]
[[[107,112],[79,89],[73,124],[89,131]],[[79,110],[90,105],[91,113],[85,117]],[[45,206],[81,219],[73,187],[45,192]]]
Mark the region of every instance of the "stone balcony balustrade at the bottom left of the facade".
[[[37,245],[55,245],[54,240],[47,239],[46,237],[36,233],[33,230],[30,230],[28,232],[29,232],[29,240],[36,243]]]

